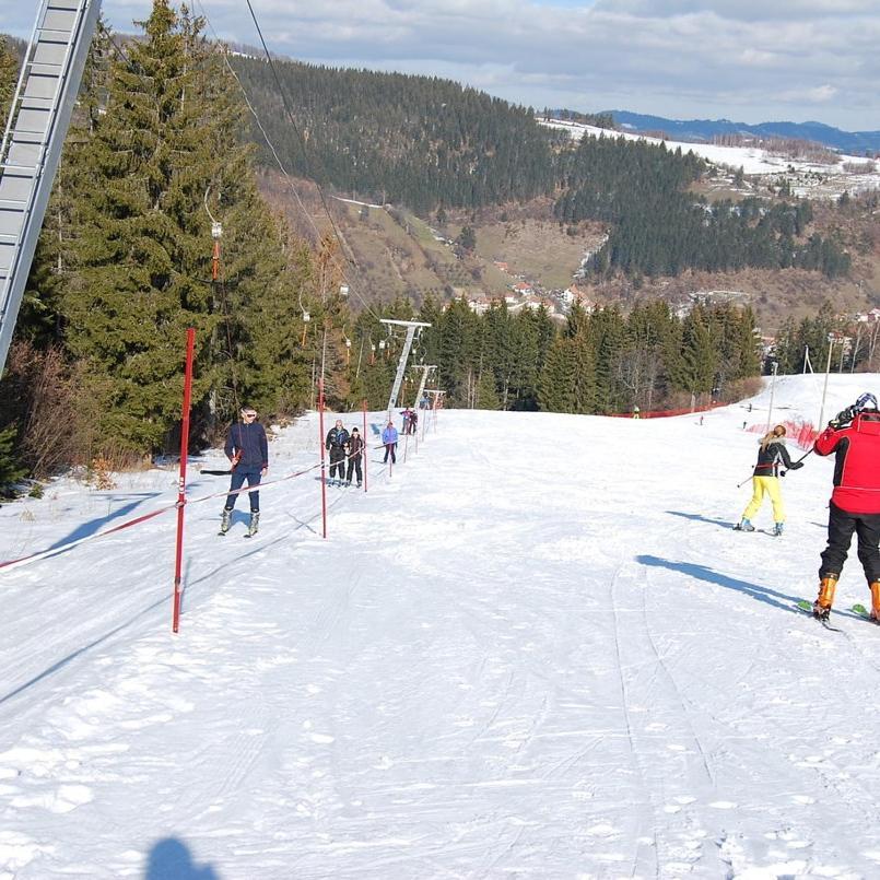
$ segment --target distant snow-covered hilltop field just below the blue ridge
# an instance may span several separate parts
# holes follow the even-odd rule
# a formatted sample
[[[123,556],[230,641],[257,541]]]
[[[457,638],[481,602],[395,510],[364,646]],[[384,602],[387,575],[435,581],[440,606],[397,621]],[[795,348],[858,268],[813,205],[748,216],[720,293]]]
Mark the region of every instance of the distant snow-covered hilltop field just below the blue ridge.
[[[880,189],[880,162],[865,159],[865,156],[841,155],[840,163],[830,165],[777,155],[760,146],[721,146],[712,143],[661,141],[659,138],[649,138],[644,134],[633,134],[625,131],[609,131],[605,128],[585,126],[579,122],[544,119],[537,119],[536,121],[548,128],[568,131],[574,140],[580,140],[584,137],[612,137],[655,144],[665,143],[667,150],[676,151],[680,148],[682,153],[693,152],[713,165],[732,169],[742,168],[743,174],[750,177],[785,177],[791,184],[793,192],[797,196],[836,198],[844,190],[852,195],[864,190]],[[847,171],[847,165],[864,166],[866,168],[872,165],[873,169],[868,173],[857,174]]]

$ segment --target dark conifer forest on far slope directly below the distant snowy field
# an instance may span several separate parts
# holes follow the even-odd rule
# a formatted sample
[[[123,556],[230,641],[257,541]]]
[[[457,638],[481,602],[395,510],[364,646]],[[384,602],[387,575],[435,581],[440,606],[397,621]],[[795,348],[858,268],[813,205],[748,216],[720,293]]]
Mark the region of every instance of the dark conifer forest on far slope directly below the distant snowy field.
[[[568,189],[556,214],[566,222],[611,224],[609,240],[590,262],[601,274],[797,267],[834,278],[849,270],[837,243],[807,237],[812,209],[806,200],[772,204],[749,198],[708,206],[694,199],[688,187],[706,165],[693,153],[670,153],[662,143],[584,138],[568,161]]]

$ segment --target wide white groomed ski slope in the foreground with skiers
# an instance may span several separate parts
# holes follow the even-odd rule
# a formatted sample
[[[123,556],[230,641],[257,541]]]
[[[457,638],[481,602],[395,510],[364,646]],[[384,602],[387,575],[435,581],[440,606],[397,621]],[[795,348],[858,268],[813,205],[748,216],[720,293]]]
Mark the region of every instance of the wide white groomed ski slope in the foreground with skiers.
[[[865,390],[832,376],[824,420]],[[820,395],[781,377],[773,421],[816,422]],[[253,540],[244,500],[225,538],[222,501],[192,504],[178,635],[173,512],[1,570],[0,878],[880,877],[855,558],[841,633],[794,608],[832,462],[785,478],[783,538],[730,529],[768,401],[443,411],[394,473],[373,453],[368,493],[328,490],[326,540],[314,471],[265,490]],[[271,476],[317,449],[301,420]],[[0,508],[0,559],[175,483],[59,481]]]

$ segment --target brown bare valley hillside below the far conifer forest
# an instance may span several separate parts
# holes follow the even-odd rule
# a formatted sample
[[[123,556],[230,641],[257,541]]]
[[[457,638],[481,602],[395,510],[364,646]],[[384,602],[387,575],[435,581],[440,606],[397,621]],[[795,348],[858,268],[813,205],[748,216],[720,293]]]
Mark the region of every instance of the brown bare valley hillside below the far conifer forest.
[[[559,223],[549,198],[479,211],[447,209],[439,218],[435,213],[419,219],[407,211],[352,204],[331,196],[321,200],[314,184],[294,181],[294,191],[274,173],[265,173],[260,185],[293,233],[309,242],[329,228],[329,210],[345,251],[354,258],[351,273],[371,302],[397,295],[410,296],[416,304],[425,295],[500,297],[520,280],[538,292],[564,290],[606,233],[598,223]],[[725,298],[750,305],[767,333],[789,316],[799,320],[816,314],[824,301],[840,314],[880,305],[880,196],[816,202],[813,211],[808,233],[834,236],[849,253],[852,270],[845,278],[828,279],[800,269],[747,269],[577,284],[592,301],[623,309],[652,298],[674,307],[694,294],[720,291]],[[477,247],[469,253],[451,244],[465,225],[477,237]]]

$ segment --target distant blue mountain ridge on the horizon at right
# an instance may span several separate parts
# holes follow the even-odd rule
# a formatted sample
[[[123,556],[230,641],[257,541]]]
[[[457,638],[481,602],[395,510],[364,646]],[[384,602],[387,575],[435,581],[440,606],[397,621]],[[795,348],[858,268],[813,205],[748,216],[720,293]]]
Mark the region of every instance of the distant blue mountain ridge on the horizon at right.
[[[717,134],[751,134],[759,138],[796,138],[816,141],[854,155],[880,152],[880,131],[843,131],[823,122],[761,122],[750,126],[729,119],[667,119],[627,110],[606,110],[619,128],[634,131],[665,131],[683,141],[711,142]]]

